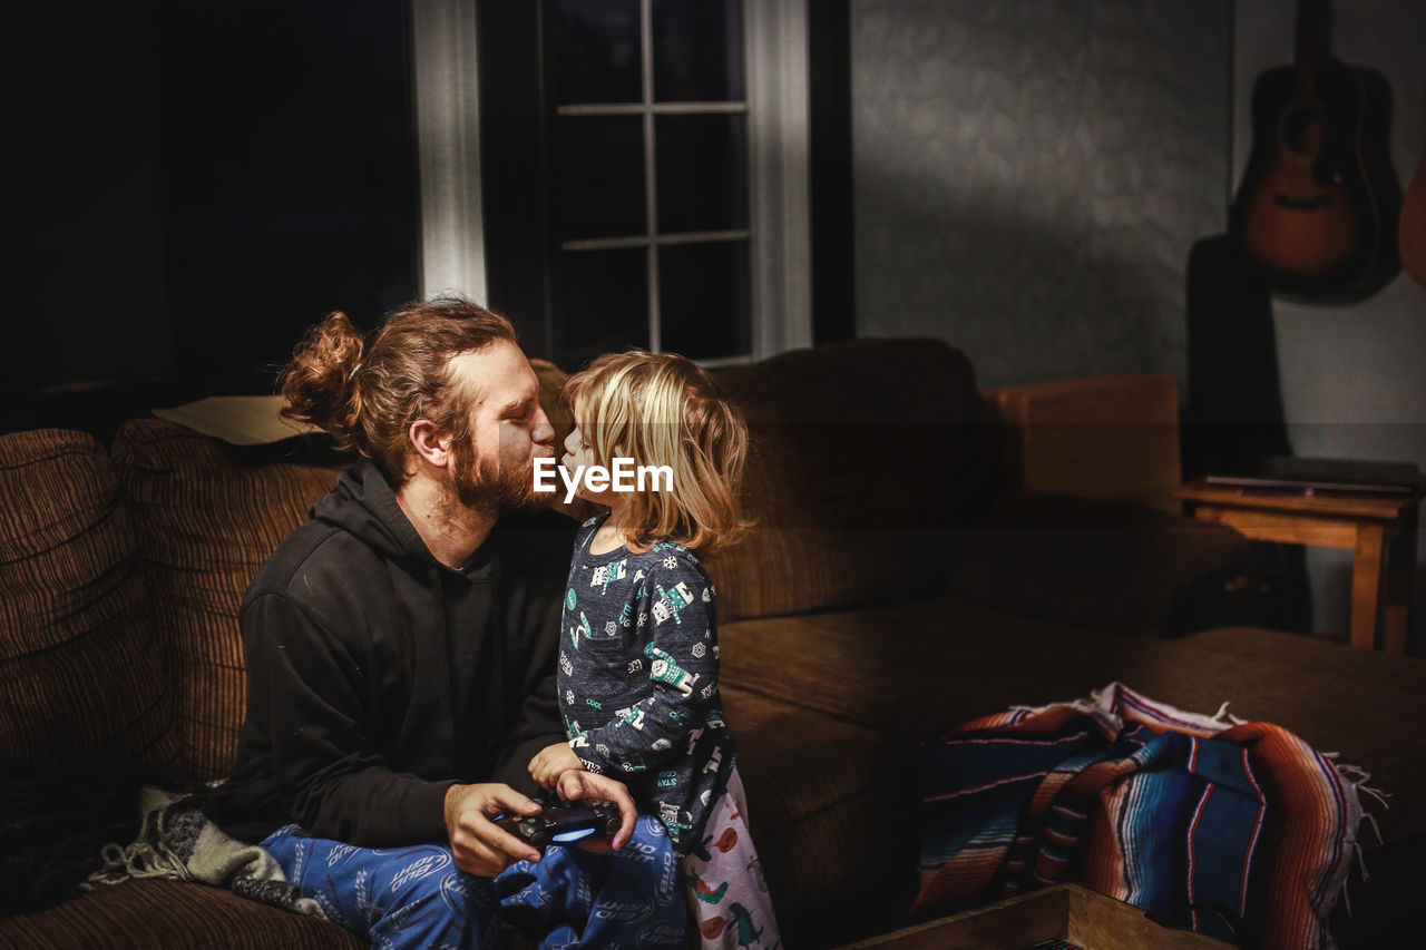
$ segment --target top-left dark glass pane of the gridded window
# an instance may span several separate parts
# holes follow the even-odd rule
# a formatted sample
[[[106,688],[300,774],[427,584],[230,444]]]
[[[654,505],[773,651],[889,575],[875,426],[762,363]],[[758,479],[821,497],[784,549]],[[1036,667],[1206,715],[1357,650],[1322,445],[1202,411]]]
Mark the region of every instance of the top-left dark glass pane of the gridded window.
[[[643,100],[639,0],[552,0],[546,53],[559,106]]]

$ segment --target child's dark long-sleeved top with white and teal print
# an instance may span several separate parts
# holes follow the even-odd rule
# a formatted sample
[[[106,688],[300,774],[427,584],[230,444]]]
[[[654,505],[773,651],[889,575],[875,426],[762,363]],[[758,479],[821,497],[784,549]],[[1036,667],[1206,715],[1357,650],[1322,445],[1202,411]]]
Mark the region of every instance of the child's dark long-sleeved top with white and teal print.
[[[590,553],[607,516],[585,522],[575,543],[559,709],[585,769],[625,782],[687,854],[702,844],[733,767],[717,690],[713,582],[693,552],[674,543]]]

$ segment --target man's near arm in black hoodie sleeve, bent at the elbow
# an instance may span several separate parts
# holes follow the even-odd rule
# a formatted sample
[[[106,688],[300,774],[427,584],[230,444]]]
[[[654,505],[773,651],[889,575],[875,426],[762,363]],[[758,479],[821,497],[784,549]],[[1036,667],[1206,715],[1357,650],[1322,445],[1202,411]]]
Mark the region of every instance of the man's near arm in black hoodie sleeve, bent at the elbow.
[[[446,840],[451,780],[396,772],[369,735],[366,680],[305,608],[264,593],[241,615],[248,715],[264,717],[272,776],[309,834],[362,847]]]

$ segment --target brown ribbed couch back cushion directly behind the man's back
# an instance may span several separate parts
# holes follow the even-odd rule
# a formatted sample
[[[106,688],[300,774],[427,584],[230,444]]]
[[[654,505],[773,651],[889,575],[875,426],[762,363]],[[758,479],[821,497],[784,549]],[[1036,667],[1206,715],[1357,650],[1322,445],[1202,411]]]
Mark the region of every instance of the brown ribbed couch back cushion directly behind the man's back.
[[[175,695],[180,765],[205,779],[232,767],[242,725],[238,603],[344,464],[301,455],[305,445],[227,448],[161,419],[135,419],[114,438]]]

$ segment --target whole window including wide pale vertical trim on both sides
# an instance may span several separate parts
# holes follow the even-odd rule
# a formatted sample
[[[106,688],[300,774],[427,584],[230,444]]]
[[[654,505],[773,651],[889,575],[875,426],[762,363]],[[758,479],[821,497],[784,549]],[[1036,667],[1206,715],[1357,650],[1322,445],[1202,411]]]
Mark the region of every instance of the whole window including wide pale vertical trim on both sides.
[[[488,300],[566,369],[810,342],[801,3],[476,10],[415,11],[426,292]]]

